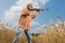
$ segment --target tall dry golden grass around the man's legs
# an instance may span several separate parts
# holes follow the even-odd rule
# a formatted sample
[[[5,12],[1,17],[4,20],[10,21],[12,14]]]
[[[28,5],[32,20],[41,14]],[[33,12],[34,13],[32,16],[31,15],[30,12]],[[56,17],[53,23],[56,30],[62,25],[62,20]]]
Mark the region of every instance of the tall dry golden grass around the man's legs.
[[[64,26],[65,29],[65,26]],[[47,27],[47,31],[43,34],[32,34],[32,43],[65,43],[65,30],[61,26],[51,29]],[[16,32],[13,30],[0,29],[0,43],[12,43]],[[18,43],[26,43],[26,35],[23,34],[18,40]]]

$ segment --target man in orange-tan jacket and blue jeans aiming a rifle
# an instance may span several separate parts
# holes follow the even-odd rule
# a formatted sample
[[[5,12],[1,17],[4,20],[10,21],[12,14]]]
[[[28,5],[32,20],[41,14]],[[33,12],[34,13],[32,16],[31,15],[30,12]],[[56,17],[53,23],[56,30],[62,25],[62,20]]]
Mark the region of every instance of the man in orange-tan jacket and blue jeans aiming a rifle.
[[[35,11],[31,9],[32,9],[32,3],[27,4],[26,9],[22,11],[22,14],[20,16],[20,22],[18,22],[18,27],[24,29],[28,43],[31,42],[30,33],[28,32],[30,30],[30,20],[34,19],[38,13],[40,13],[40,10]],[[18,32],[12,43],[17,43],[22,30],[18,29]]]

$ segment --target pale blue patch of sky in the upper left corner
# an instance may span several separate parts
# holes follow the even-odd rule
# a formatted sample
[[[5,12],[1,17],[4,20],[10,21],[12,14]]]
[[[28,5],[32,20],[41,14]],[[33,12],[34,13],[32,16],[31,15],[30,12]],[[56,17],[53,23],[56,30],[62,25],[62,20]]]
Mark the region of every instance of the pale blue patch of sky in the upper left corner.
[[[0,18],[4,18],[4,11],[15,4],[16,0],[0,0]]]

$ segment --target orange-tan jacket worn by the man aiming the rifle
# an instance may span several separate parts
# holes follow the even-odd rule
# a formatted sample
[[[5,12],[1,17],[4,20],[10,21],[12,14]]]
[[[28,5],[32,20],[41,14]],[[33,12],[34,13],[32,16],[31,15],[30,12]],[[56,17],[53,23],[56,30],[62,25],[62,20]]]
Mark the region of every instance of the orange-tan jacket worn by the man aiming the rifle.
[[[30,30],[30,20],[34,19],[37,15],[35,15],[34,11],[28,11],[24,9],[20,16],[18,26],[25,30]]]

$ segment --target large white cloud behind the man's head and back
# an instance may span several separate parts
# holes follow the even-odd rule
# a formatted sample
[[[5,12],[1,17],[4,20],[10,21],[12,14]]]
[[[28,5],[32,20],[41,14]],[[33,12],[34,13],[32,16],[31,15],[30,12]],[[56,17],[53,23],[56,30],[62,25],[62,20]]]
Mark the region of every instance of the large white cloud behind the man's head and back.
[[[35,8],[42,8],[47,2],[49,2],[49,0],[17,0],[15,5],[12,5],[8,11],[4,12],[5,23],[9,23],[10,25],[17,23],[22,10],[28,3],[34,3]]]

